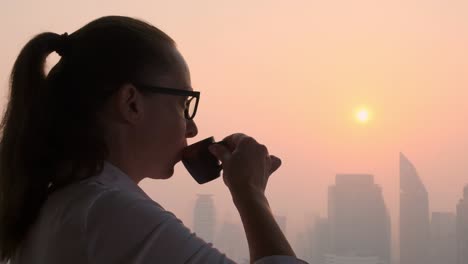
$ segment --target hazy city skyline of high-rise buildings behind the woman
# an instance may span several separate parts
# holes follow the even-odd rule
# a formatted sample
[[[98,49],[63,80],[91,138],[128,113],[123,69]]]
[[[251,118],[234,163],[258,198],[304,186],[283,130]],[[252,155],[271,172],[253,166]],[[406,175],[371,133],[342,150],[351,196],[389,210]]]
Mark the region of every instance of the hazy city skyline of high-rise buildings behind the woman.
[[[309,227],[296,232],[295,240],[285,228],[286,216],[276,214],[275,218],[285,235],[294,241],[292,245],[298,256],[310,263],[464,264],[464,249],[468,247],[468,185],[463,189],[457,211],[437,212],[429,211],[424,182],[417,167],[403,153],[400,153],[400,178],[399,243],[390,242],[396,239],[392,235],[396,230],[391,231],[382,189],[374,183],[371,174],[337,174],[335,185],[328,188],[329,215],[308,218]],[[201,196],[211,199],[210,194]],[[247,260],[239,257],[248,253],[245,235],[239,234],[239,219],[231,214],[223,221],[215,246],[231,252],[239,260]],[[229,243],[233,237],[240,239],[241,245]],[[460,245],[460,241],[465,244]]]

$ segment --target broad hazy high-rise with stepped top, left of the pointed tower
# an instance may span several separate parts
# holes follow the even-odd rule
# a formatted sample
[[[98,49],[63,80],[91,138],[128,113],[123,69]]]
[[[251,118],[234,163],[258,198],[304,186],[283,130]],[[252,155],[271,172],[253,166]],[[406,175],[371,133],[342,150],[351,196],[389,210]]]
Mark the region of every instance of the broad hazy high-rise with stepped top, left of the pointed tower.
[[[369,174],[338,174],[328,189],[330,255],[391,262],[390,216]]]

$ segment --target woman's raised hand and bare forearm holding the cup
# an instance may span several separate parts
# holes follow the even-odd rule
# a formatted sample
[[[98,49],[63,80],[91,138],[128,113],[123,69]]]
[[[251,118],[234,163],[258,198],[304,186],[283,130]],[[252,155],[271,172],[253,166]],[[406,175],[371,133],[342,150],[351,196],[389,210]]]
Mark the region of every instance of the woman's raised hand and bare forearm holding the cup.
[[[266,256],[295,256],[279,228],[265,197],[268,178],[281,160],[244,134],[233,134],[214,144],[210,151],[223,163],[223,179],[244,225],[250,261]]]

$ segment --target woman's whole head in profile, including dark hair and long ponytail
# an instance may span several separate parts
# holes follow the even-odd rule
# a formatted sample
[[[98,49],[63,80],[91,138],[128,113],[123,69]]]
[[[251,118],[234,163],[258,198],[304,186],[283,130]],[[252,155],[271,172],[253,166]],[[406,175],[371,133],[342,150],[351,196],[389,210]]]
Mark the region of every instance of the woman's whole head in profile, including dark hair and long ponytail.
[[[53,51],[62,57],[46,76]],[[1,124],[0,261],[14,254],[51,190],[99,173],[104,160],[131,159],[129,170],[142,166],[132,171],[137,180],[172,174],[196,126],[183,116],[186,97],[142,85],[191,89],[174,41],[143,21],[103,17],[25,45]]]

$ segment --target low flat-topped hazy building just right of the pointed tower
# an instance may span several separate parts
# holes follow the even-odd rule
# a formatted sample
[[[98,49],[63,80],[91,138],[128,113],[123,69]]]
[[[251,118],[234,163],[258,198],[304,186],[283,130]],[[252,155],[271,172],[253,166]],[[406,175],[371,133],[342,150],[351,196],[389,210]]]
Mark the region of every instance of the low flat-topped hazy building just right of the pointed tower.
[[[457,264],[455,222],[456,216],[454,213],[432,213],[429,263]]]

